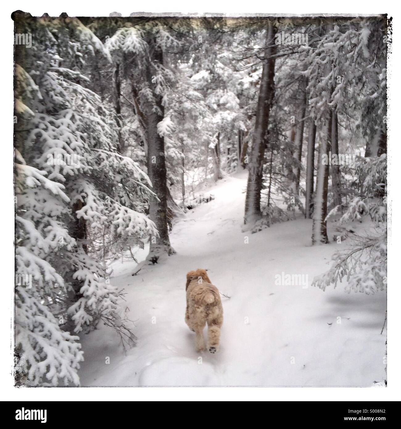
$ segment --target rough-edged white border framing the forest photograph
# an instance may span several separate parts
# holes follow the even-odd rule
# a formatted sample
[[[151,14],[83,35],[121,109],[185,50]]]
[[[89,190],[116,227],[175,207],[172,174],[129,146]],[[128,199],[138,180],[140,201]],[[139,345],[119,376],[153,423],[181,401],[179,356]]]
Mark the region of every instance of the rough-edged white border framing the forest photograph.
[[[397,164],[396,160],[400,157],[400,143],[396,136],[396,124],[398,111],[395,107],[400,103],[400,84],[395,76],[399,73],[400,52],[398,47],[399,24],[398,13],[395,13],[397,5],[394,1],[367,0],[364,3],[350,4],[349,0],[338,0],[322,5],[320,1],[311,0],[307,3],[287,1],[265,3],[255,0],[244,1],[215,1],[202,0],[202,2],[191,3],[190,6],[185,0],[170,0],[166,3],[163,0],[153,0],[146,5],[138,5],[128,1],[115,1],[112,4],[104,1],[103,3],[87,4],[82,1],[70,0],[65,4],[57,4],[54,1],[26,1],[21,0],[15,6],[1,6],[1,31],[3,44],[1,73],[1,94],[3,100],[0,104],[2,121],[2,153],[3,163],[0,168],[1,175],[1,201],[3,210],[1,211],[1,246],[0,257],[1,267],[4,275],[2,282],[1,320],[0,320],[0,344],[2,353],[0,354],[0,400],[2,401],[394,401],[400,399],[401,371],[398,363],[400,353],[400,312],[401,305],[401,286],[398,284],[398,254],[400,243],[400,225],[392,221],[391,231],[389,230],[389,266],[388,266],[388,387],[387,388],[342,388],[342,387],[314,387],[314,388],[271,388],[271,387],[70,387],[70,388],[15,388],[12,378],[12,335],[13,326],[13,288],[14,284],[14,251],[12,243],[14,242],[14,203],[13,203],[13,124],[12,124],[12,106],[13,106],[13,45],[12,34],[14,22],[11,19],[11,13],[17,9],[24,12],[30,12],[31,15],[41,16],[47,12],[51,16],[60,15],[66,12],[69,16],[109,16],[111,12],[120,12],[123,16],[129,16],[136,12],[132,8],[145,8],[147,12],[164,12],[168,8],[171,11],[186,13],[225,13],[227,15],[244,15],[240,13],[246,9],[246,14],[268,14],[268,15],[298,15],[298,14],[321,14],[321,15],[378,15],[387,13],[393,17],[392,34],[392,54],[389,56],[388,68],[388,141],[389,141],[389,171],[388,171],[388,194],[389,194],[389,212],[398,213],[400,199],[398,196],[397,183]],[[188,9],[190,7],[190,9]],[[112,9],[113,8],[113,9]],[[306,10],[305,10],[306,8]],[[324,13],[322,9],[328,9],[331,13]],[[397,9],[398,10],[398,9]],[[344,12],[344,13],[342,13]],[[398,102],[398,103],[397,103]],[[397,103],[397,104],[396,104]],[[398,179],[399,180],[399,179]],[[268,369],[267,369],[268,370]],[[90,391],[88,391],[90,389]],[[224,389],[224,393],[218,389]],[[322,391],[323,389],[323,391]]]

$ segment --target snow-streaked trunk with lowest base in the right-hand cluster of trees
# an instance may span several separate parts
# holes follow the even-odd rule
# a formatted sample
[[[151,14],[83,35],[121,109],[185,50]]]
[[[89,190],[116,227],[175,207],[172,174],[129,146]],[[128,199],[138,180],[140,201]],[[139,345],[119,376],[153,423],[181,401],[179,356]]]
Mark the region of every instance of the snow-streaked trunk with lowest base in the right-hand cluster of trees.
[[[327,190],[329,186],[329,150],[332,138],[332,115],[330,109],[327,124],[327,138],[322,139],[319,145],[319,157],[317,160],[316,192],[314,200],[312,244],[329,242],[327,236]]]

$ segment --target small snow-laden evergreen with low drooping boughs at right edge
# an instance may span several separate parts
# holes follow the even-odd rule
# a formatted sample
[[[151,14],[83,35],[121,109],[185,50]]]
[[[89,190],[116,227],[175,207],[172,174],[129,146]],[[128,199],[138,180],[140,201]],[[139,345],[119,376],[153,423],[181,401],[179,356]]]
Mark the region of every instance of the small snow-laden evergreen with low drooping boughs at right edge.
[[[387,286],[387,157],[360,158],[357,173],[362,196],[353,198],[338,220],[339,237],[349,242],[345,250],[332,256],[328,272],[313,284],[323,290],[346,280],[347,292],[375,293]],[[327,216],[332,218],[336,206]],[[358,225],[361,224],[361,225]],[[362,231],[356,231],[358,226]]]

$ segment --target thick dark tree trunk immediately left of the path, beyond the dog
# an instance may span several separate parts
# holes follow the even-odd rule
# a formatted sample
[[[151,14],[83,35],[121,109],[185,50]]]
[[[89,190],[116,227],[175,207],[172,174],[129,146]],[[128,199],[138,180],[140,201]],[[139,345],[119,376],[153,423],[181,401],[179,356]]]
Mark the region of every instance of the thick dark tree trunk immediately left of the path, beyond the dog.
[[[148,38],[149,55],[154,64],[163,64],[163,52],[156,45],[153,36]],[[152,182],[152,190],[157,195],[151,197],[149,202],[149,217],[156,224],[159,237],[151,237],[150,249],[147,260],[155,263],[160,256],[175,254],[171,247],[168,228],[167,213],[167,172],[166,159],[164,151],[164,138],[157,132],[157,124],[164,118],[164,107],[162,97],[153,91],[154,83],[152,76],[154,71],[151,69],[151,61],[148,59],[145,63],[146,79],[148,87],[152,88],[154,104],[146,102],[145,111],[147,117],[146,140],[148,143],[147,161],[148,176]]]

